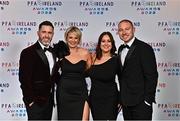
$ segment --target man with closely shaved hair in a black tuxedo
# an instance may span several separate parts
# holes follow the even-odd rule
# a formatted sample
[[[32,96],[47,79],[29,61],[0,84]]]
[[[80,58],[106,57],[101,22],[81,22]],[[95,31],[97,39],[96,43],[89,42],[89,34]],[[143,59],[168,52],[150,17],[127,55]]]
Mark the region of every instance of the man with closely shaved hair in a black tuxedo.
[[[158,72],[155,54],[150,45],[134,36],[130,20],[118,24],[118,34],[124,42],[119,47],[120,104],[124,120],[152,120]]]

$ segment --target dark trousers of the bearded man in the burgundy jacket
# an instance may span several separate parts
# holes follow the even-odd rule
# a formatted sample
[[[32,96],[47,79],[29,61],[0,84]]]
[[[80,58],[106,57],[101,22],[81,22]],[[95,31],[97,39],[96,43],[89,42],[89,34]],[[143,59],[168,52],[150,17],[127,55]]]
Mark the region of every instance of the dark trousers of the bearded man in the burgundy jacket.
[[[43,105],[34,103],[31,107],[26,106],[28,120],[51,120],[53,111],[52,97]]]

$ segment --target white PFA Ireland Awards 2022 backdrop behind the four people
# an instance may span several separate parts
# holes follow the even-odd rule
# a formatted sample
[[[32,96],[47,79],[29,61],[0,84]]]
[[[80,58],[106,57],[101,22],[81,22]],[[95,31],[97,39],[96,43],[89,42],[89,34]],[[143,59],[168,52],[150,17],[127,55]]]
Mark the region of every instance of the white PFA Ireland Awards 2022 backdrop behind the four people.
[[[118,22],[130,19],[136,37],[150,44],[159,72],[154,120],[180,120],[180,0],[0,0],[0,120],[26,120],[18,80],[19,56],[35,43],[40,22],[55,27],[53,43],[69,26],[81,29],[81,46],[94,52],[110,31],[119,47]],[[90,88],[90,80],[87,79]],[[56,118],[56,109],[53,119]],[[122,119],[122,113],[118,115]]]

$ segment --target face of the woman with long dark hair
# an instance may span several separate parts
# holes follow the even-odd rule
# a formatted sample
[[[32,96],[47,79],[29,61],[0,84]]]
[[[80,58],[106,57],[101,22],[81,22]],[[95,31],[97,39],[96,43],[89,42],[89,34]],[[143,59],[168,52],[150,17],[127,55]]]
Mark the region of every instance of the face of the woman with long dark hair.
[[[112,42],[110,40],[110,37],[108,35],[104,35],[101,39],[100,48],[103,53],[110,53],[112,48]]]

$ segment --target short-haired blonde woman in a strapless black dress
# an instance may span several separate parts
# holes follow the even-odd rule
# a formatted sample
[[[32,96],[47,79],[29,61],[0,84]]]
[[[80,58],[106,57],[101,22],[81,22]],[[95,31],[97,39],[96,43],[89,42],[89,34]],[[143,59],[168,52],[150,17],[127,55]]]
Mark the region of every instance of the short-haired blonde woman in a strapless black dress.
[[[58,120],[88,120],[88,91],[84,72],[91,64],[88,50],[79,47],[82,33],[75,26],[65,32],[70,54],[60,60],[61,76],[57,84]]]

